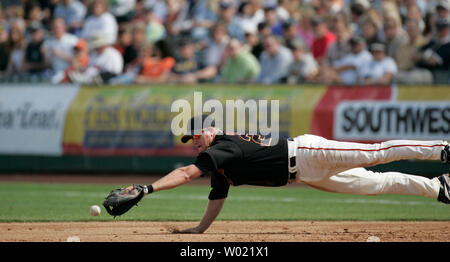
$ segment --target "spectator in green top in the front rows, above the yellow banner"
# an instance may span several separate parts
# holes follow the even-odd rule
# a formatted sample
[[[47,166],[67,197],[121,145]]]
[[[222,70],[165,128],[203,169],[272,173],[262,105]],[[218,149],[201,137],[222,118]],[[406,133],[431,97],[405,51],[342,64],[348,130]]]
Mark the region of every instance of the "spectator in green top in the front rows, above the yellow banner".
[[[253,83],[261,70],[256,57],[236,38],[230,40],[225,52],[226,60],[220,74],[222,82]]]

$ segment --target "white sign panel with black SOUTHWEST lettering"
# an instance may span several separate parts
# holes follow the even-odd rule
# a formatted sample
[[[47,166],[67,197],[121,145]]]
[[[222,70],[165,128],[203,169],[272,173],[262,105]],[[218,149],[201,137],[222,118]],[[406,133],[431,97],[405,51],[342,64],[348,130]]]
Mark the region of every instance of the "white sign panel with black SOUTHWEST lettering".
[[[342,140],[449,139],[449,102],[342,102],[334,136]]]

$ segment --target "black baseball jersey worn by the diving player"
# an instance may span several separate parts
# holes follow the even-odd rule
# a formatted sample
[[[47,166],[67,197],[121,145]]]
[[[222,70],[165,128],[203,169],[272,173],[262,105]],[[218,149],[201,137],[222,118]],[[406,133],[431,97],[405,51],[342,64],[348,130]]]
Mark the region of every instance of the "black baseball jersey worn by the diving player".
[[[286,139],[271,144],[260,135],[216,135],[194,165],[211,172],[209,199],[222,199],[231,185],[283,186],[289,179]]]

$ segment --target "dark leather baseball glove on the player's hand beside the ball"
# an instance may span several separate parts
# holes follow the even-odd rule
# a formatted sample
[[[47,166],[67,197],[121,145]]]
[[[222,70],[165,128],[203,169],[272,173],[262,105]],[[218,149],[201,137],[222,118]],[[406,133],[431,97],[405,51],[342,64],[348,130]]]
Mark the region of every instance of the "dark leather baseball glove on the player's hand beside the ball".
[[[109,193],[103,206],[111,216],[120,216],[133,206],[137,206],[147,193],[148,189],[145,185],[133,184],[126,188],[118,188]]]

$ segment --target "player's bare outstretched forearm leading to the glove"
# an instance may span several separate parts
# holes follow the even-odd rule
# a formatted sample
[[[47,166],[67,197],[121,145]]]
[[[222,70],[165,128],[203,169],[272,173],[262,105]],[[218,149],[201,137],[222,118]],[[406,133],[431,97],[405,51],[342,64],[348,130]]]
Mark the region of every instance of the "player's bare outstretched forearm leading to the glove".
[[[192,179],[200,177],[201,175],[202,171],[200,171],[200,169],[198,169],[198,167],[196,167],[195,165],[188,165],[185,167],[177,168],[161,179],[155,181],[152,184],[153,192],[181,186],[191,181]]]

